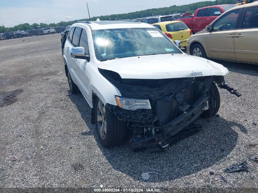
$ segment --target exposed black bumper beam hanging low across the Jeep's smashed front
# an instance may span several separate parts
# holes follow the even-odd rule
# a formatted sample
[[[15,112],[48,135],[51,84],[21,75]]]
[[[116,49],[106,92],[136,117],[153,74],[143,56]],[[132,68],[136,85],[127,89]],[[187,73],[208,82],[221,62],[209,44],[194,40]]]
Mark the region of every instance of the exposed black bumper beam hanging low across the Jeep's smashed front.
[[[181,130],[184,130],[185,127],[189,126],[191,123],[194,122],[204,111],[208,95],[205,93],[203,94],[197,102],[195,102],[192,106],[192,109],[184,113],[176,119],[170,121],[169,123],[165,124],[163,127],[163,132],[161,134],[155,135],[153,137],[145,138],[145,139],[139,139],[134,138],[133,141],[131,141],[131,145],[133,148],[143,148],[143,147],[151,147],[156,146],[158,144],[161,144],[163,142],[166,142],[168,138],[171,138],[175,134],[179,133]]]

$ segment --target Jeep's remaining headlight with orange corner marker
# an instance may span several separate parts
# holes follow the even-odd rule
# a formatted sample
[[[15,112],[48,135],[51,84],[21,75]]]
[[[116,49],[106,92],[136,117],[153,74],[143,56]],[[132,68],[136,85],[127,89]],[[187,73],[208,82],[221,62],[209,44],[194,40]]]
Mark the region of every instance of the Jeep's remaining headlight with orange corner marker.
[[[122,109],[136,110],[136,109],[151,109],[149,100],[140,100],[133,98],[122,98],[116,96],[117,105]]]

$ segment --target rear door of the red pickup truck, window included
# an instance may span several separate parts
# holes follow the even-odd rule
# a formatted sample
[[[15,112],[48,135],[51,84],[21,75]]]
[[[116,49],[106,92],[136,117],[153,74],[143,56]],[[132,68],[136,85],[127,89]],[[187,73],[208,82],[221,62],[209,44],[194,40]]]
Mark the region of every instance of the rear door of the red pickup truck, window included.
[[[207,26],[207,23],[209,21],[207,20],[209,16],[208,11],[209,11],[209,8],[198,10],[197,15],[193,18],[193,22],[192,22],[194,33],[197,33],[203,30]]]

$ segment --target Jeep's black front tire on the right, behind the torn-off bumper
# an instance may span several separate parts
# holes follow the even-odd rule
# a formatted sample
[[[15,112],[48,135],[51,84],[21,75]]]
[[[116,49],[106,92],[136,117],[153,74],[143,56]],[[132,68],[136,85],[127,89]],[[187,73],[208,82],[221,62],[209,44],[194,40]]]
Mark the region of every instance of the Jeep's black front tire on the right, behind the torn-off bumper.
[[[208,91],[208,95],[209,109],[207,109],[200,115],[201,118],[211,118],[215,116],[220,109],[220,93],[215,83]]]

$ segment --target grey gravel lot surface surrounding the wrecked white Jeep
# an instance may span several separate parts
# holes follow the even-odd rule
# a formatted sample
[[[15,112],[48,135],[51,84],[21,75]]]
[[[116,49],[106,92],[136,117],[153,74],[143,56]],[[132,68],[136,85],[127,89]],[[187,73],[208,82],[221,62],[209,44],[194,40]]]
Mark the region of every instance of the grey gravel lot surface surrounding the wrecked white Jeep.
[[[89,105],[69,95],[60,34],[0,41],[0,103],[12,93],[14,101],[0,107],[0,187],[257,188],[258,163],[223,170],[258,156],[258,65],[218,62],[242,96],[219,89],[219,116],[197,120],[198,134],[165,152],[133,152],[128,141],[114,148],[97,141]],[[158,174],[143,180],[143,172]]]

